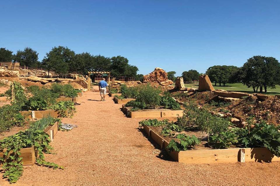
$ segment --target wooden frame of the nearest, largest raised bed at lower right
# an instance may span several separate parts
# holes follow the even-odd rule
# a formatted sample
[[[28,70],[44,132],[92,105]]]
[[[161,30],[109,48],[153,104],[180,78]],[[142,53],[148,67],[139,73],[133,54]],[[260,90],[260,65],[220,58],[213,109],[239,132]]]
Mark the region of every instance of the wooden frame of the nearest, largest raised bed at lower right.
[[[186,164],[202,163],[235,163],[235,162],[278,162],[280,158],[274,156],[266,148],[234,148],[234,149],[211,149],[211,150],[189,150],[169,151],[169,144],[163,137],[155,133],[149,126],[144,126],[145,132],[151,137],[161,149],[177,162]]]

